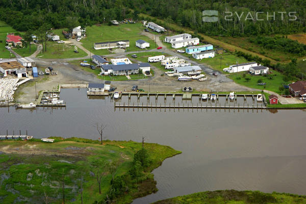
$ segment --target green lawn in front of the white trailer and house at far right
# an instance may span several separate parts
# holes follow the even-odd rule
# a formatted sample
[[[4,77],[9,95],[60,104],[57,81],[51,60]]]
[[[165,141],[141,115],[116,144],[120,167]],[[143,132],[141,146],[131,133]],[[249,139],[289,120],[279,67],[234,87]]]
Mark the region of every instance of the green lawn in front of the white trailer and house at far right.
[[[234,80],[234,82],[236,82],[237,84],[240,84],[243,86],[247,86],[247,87],[254,88],[254,89],[260,89],[260,90],[265,89],[265,90],[274,91],[278,94],[281,94],[281,91],[279,91],[278,88],[285,84],[286,85],[289,84],[289,82],[284,82],[283,74],[275,70],[270,70],[270,71],[272,71],[272,73],[268,74],[267,77],[265,77],[265,75],[251,75],[245,72],[228,74],[228,77]],[[250,79],[249,81],[245,80],[244,74],[246,78]],[[262,82],[267,83],[266,86],[257,85],[258,80],[262,80]]]

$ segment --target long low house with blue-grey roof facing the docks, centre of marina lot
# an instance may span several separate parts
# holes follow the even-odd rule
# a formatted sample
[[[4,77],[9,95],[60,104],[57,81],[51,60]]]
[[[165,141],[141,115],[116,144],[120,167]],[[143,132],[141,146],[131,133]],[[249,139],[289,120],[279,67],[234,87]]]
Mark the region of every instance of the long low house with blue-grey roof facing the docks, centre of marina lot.
[[[101,73],[108,75],[125,75],[125,74],[138,74],[139,73],[139,66],[138,64],[106,64],[101,65]]]

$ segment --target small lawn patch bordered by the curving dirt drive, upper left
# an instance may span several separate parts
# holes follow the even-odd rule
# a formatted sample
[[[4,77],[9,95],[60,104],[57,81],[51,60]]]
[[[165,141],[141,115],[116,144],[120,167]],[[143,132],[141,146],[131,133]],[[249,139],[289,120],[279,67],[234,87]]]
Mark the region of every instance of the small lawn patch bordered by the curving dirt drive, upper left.
[[[47,51],[38,54],[37,57],[42,56],[41,58],[44,59],[65,59],[87,56],[80,48],[78,48],[78,52],[74,53],[74,45],[47,41]]]

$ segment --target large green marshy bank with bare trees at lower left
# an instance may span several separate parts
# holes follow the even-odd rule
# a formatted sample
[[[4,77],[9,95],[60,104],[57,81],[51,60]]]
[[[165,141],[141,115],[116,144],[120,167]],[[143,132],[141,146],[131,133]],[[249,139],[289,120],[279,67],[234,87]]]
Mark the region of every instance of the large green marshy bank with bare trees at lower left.
[[[97,169],[90,164],[96,158],[110,163],[118,162],[115,176],[125,175],[132,167],[134,152],[141,143],[125,141],[99,141],[82,138],[56,138],[55,143],[34,141],[0,142],[0,202],[6,203],[45,203],[44,192],[49,196],[48,203],[62,203],[62,183],[64,181],[65,203],[81,203],[81,178],[83,176],[84,203],[93,203],[105,197],[112,175],[105,171],[101,180],[101,194],[96,182]],[[180,154],[169,146],[145,143],[152,163],[145,176],[151,178],[148,186],[135,184],[129,193],[117,198],[120,203],[130,203],[148,194],[149,188],[156,188],[150,173],[168,157]]]

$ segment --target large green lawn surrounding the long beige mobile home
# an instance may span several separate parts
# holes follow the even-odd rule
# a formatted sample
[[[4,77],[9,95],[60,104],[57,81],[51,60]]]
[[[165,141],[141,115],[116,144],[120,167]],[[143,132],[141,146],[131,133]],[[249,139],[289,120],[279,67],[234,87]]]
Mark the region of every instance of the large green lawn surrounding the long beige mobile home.
[[[93,43],[117,40],[130,40],[130,47],[126,48],[126,52],[143,50],[135,46],[136,40],[145,40],[150,43],[147,49],[155,48],[155,42],[147,36],[140,35],[144,27],[142,23],[135,24],[119,24],[119,25],[92,25],[86,27],[86,38],[81,42],[84,47],[95,55],[107,55],[108,49],[93,49]],[[62,35],[63,36],[63,35]]]

